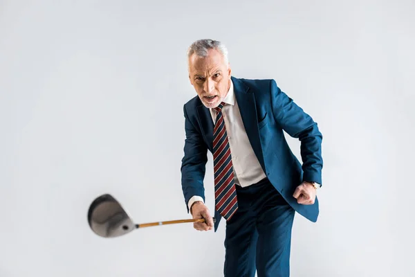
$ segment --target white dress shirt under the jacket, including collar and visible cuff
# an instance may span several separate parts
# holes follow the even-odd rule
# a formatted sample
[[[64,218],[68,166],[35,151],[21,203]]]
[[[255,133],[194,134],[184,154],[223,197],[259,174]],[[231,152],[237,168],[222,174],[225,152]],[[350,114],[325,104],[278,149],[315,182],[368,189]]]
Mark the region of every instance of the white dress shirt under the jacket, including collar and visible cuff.
[[[235,184],[246,187],[256,184],[266,177],[264,170],[255,156],[254,150],[250,145],[248,136],[246,135],[245,127],[243,126],[241,114],[237,100],[234,95],[234,88],[232,81],[228,94],[223,99],[226,105],[222,108],[223,120],[225,121],[225,128],[228,134],[228,141],[230,147],[230,154],[232,155],[232,165],[234,171]],[[210,109],[213,124],[216,121],[216,111]],[[199,195],[194,195],[190,198],[188,206],[196,201],[203,202],[203,198]]]

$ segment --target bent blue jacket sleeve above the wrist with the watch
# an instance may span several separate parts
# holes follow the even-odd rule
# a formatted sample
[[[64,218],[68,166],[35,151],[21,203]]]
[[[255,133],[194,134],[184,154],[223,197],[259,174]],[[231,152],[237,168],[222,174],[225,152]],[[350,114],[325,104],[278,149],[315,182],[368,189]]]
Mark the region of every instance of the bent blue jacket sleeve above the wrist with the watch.
[[[287,134],[301,142],[303,181],[322,185],[322,134],[317,123],[277,87],[275,80],[270,82],[270,91],[275,120]]]

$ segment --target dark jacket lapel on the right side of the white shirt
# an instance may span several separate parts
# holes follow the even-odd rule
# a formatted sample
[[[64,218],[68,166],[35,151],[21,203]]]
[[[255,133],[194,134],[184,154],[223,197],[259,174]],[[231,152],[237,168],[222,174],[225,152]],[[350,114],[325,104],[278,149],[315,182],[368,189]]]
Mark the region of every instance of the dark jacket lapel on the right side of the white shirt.
[[[241,80],[232,77],[232,82],[234,83],[234,93],[239,106],[239,112],[241,113],[243,126],[245,127],[246,134],[248,135],[252,150],[254,150],[262,168],[265,168],[264,156],[262,154],[261,141],[259,138],[255,95],[252,91],[249,91],[249,87],[246,84],[243,84]]]

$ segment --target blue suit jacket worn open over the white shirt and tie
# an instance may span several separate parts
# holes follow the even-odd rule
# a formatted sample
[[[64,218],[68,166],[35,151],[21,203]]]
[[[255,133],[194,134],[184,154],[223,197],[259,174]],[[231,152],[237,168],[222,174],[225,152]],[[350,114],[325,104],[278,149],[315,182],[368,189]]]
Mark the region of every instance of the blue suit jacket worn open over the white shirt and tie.
[[[293,193],[302,181],[322,184],[322,134],[317,123],[277,87],[275,80],[231,78],[250,144],[270,183],[297,213],[316,222],[318,199],[313,205],[302,205],[297,203]],[[205,200],[203,179],[208,161],[207,151],[212,152],[214,123],[209,109],[202,104],[199,96],[188,101],[183,111],[185,146],[181,182],[187,207],[193,195]],[[291,152],[283,130],[301,142],[302,164]],[[215,211],[214,217],[216,231],[221,215]]]

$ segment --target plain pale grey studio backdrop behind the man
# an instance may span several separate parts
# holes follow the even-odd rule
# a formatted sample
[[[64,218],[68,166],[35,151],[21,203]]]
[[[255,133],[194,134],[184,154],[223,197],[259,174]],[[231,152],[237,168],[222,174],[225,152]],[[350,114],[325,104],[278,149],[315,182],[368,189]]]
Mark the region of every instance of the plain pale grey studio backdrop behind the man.
[[[190,218],[185,54],[202,38],[228,46],[235,77],[274,78],[323,134],[320,217],[295,217],[291,276],[415,276],[414,12],[412,0],[0,0],[0,276],[223,276],[222,222],[104,239],[86,221],[102,193],[137,223]]]

